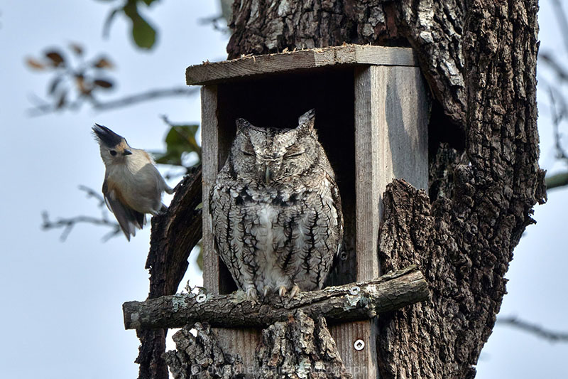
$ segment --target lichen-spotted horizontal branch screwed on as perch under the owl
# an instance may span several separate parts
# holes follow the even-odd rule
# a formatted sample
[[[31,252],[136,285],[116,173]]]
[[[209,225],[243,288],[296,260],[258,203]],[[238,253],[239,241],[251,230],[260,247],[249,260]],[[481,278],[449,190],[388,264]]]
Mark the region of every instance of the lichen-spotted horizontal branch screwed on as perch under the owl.
[[[413,265],[368,282],[301,292],[294,299],[274,297],[262,303],[253,302],[239,291],[229,295],[177,294],[129,301],[123,304],[124,326],[126,329],[179,328],[207,322],[219,327],[266,327],[287,320],[295,311],[312,318],[324,316],[333,324],[369,319],[423,301],[429,294],[424,276]]]

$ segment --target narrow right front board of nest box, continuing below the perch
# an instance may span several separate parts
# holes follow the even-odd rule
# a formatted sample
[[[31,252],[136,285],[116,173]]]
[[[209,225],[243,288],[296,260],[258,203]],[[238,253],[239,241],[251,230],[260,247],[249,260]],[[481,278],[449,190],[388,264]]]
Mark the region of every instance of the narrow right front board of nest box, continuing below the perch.
[[[378,227],[380,222],[378,186],[378,70],[356,68],[355,92],[355,247],[357,281],[379,275]],[[344,363],[355,379],[378,378],[376,320],[340,324],[332,328]],[[361,348],[361,341],[364,343]],[[359,343],[359,349],[356,349]],[[356,370],[355,370],[356,369]]]

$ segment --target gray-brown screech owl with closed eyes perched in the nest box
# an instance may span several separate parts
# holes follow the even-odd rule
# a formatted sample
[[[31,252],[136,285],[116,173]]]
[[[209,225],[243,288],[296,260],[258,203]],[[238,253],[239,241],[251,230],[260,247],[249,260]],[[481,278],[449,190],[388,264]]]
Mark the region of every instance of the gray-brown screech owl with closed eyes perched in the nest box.
[[[293,129],[236,120],[209,192],[215,250],[251,299],[322,288],[341,249],[341,198],[314,118],[302,114]]]

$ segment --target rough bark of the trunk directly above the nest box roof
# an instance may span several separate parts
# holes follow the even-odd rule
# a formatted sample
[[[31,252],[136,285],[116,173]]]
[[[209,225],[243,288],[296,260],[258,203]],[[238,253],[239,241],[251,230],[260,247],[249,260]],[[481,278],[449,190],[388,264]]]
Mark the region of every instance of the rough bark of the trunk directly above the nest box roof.
[[[236,0],[229,59],[342,43],[412,46],[432,92],[458,125],[466,113],[464,1]]]

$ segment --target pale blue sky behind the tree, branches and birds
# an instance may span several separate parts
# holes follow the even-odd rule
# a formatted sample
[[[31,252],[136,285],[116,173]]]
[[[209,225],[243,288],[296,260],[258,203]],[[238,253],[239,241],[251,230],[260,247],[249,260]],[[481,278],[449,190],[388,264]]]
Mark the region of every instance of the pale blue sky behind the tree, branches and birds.
[[[132,146],[163,149],[160,119],[200,120],[198,97],[166,98],[111,112],[78,112],[29,117],[31,94],[45,95],[49,75],[25,67],[28,56],[49,46],[82,43],[88,57],[108,53],[119,81],[108,99],[148,88],[185,83],[187,65],[226,56],[227,37],[198,19],[218,13],[217,1],[160,1],[145,13],[158,26],[151,53],[133,47],[127,24],[117,17],[110,38],[102,24],[112,2],[92,0],[4,1],[0,3],[0,213],[3,249],[0,288],[0,378],[136,378],[138,339],[125,331],[121,304],[148,294],[149,229],[129,243],[117,237],[102,243],[103,228],[79,225],[67,241],[40,230],[42,210],[55,216],[99,215],[94,201],[77,186],[99,189],[104,167],[92,139],[93,122],[124,135]],[[542,49],[566,61],[548,1],[541,4]],[[539,75],[545,73],[539,73]],[[540,94],[539,94],[540,96]],[[539,97],[546,105],[546,97]],[[540,107],[541,165],[561,169],[552,151],[547,107]],[[164,172],[165,167],[160,167]],[[175,182],[170,183],[175,185]],[[536,208],[507,274],[502,314],[516,315],[551,329],[568,330],[564,268],[568,191],[555,191]],[[187,277],[200,284],[195,256]],[[567,344],[551,344],[506,326],[497,326],[479,362],[478,378],[567,378]]]

